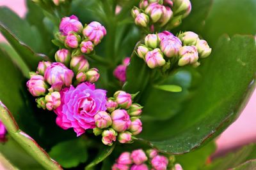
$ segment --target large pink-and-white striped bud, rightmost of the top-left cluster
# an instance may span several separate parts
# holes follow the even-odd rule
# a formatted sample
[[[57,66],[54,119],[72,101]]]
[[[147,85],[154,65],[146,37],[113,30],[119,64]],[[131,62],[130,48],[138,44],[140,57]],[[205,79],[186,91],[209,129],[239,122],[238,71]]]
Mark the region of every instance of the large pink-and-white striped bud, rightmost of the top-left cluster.
[[[93,41],[94,45],[98,45],[106,34],[107,31],[105,27],[96,21],[91,22],[83,29],[83,35],[90,41]]]

